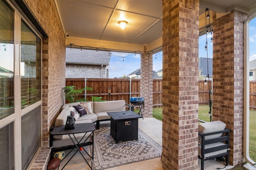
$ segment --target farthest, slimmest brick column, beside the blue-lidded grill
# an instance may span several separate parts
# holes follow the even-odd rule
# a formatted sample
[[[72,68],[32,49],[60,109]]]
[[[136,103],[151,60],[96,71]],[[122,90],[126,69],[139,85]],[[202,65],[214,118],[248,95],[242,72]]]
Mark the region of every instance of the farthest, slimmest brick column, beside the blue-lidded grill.
[[[145,102],[142,107],[143,117],[152,117],[153,110],[153,55],[144,47],[140,55],[140,97]]]

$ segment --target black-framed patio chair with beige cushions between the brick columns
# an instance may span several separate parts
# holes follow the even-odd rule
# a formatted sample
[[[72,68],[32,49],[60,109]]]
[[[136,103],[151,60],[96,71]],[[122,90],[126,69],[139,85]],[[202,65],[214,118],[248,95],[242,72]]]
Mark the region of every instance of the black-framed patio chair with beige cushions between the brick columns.
[[[204,161],[226,155],[226,165],[229,161],[230,129],[222,121],[200,123],[198,125],[198,158],[201,159],[201,170]]]

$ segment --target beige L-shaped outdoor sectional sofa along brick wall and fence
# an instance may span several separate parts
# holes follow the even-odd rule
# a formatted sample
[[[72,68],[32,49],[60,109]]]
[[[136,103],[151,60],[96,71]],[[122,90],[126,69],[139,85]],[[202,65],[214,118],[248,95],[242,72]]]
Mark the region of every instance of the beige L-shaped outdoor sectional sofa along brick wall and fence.
[[[78,116],[75,114],[74,117],[76,117],[75,124],[78,123],[96,123],[96,129],[100,129],[100,121],[108,121],[110,120],[110,116],[107,114],[109,111],[124,111],[126,110],[126,106],[131,107],[131,110],[133,111],[134,107],[126,104],[124,100],[116,100],[116,101],[107,101],[107,102],[75,102],[75,103],[69,103],[65,104],[62,107],[62,111],[56,118],[56,121],[54,123],[54,127],[65,125],[67,116],[72,114],[72,111],[74,110],[74,107],[76,106],[83,106],[85,107],[86,114],[82,116]],[[74,114],[74,113],[73,113]],[[54,127],[51,128],[51,131],[54,129]],[[86,134],[88,135],[88,134]],[[78,141],[82,139],[84,136],[84,133],[78,133],[75,134]],[[86,139],[87,136],[84,137]],[[82,141],[84,142],[84,141]],[[85,141],[84,146],[91,145],[92,138],[89,137],[87,141]],[[62,151],[62,150],[68,150],[76,148],[74,143],[70,140],[70,137],[68,135],[51,135],[50,134],[50,147],[52,147],[51,156],[54,152]]]

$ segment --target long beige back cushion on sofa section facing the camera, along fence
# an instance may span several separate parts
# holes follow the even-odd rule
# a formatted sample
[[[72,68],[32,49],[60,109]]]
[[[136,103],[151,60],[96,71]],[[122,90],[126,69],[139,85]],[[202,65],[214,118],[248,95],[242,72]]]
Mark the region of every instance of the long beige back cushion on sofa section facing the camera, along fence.
[[[94,113],[125,110],[124,100],[94,102]]]

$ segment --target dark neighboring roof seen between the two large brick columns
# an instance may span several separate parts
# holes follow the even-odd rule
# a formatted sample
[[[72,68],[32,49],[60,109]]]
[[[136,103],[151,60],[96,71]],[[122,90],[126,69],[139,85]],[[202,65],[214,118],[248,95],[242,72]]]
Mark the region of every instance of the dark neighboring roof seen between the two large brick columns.
[[[207,68],[207,58],[199,57],[198,63],[199,71],[202,70],[201,76],[207,76],[209,70],[209,76],[212,76],[212,58],[208,58],[208,68]]]

